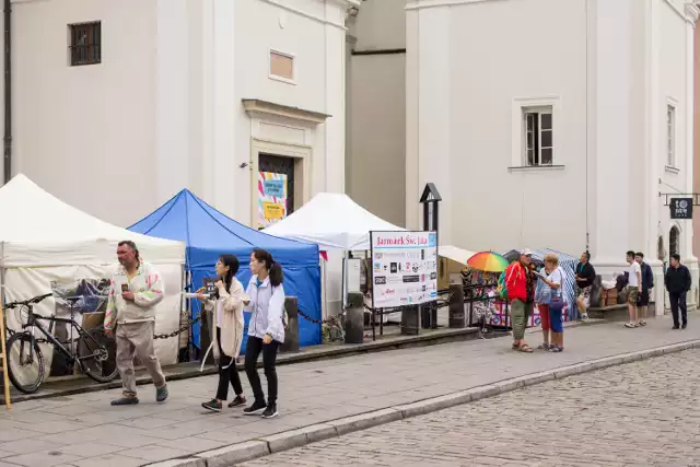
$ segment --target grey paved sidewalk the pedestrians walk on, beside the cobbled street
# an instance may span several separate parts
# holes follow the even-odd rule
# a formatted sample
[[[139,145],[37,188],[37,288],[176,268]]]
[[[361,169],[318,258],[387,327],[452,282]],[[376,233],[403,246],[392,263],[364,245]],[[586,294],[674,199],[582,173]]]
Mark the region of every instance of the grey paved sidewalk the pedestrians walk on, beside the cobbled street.
[[[217,378],[170,384],[171,399],[113,408],[119,390],[21,402],[0,412],[0,466],[140,466],[253,440],[342,417],[441,396],[505,378],[592,359],[700,339],[700,326],[672,330],[669,318],[646,328],[621,324],[580,326],[565,332],[561,354],[517,353],[510,339],[475,340],[429,348],[299,363],[278,369],[281,416],[243,417],[240,410],[207,413]],[[537,334],[529,334],[533,346]],[[243,376],[245,381],[245,376]],[[250,392],[245,387],[246,394]]]

